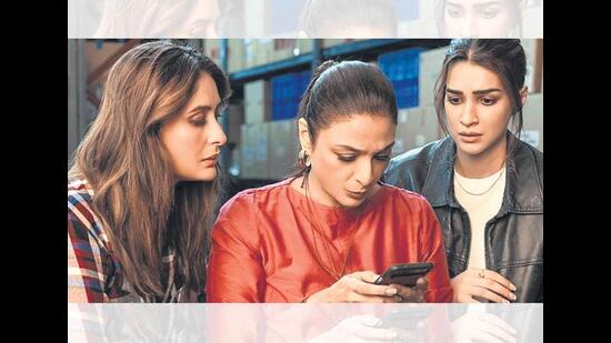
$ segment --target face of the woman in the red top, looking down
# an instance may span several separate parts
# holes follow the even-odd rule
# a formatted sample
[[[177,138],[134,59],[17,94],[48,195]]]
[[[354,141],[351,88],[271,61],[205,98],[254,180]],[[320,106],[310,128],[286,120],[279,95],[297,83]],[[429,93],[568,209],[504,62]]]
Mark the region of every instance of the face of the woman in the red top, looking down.
[[[302,147],[310,155],[310,188],[319,202],[355,208],[375,193],[390,160],[397,125],[387,115],[355,114],[318,131],[310,144],[300,122]],[[306,130],[303,128],[306,127]]]

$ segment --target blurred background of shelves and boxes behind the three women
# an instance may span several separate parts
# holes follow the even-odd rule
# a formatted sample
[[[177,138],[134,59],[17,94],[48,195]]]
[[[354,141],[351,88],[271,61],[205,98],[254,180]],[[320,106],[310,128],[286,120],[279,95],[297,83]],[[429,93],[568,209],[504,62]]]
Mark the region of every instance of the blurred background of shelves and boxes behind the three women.
[[[100,105],[106,77],[121,54],[148,40],[68,40],[68,158]],[[228,143],[222,169],[227,196],[293,171],[297,111],[311,71],[321,61],[361,60],[379,65],[397,94],[399,124],[393,155],[443,137],[433,108],[434,82],[445,39],[189,39],[228,74],[233,90],[222,124]],[[522,140],[543,150],[543,41],[523,39],[527,85]]]

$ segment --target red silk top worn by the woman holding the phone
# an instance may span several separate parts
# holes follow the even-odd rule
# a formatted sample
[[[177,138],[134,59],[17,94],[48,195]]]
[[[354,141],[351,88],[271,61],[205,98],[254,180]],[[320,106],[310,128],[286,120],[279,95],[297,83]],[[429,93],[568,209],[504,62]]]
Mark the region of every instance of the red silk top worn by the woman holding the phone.
[[[289,180],[242,191],[222,206],[212,230],[208,302],[301,302],[337,282],[332,272],[344,261],[342,275],[433,262],[424,299],[451,302],[441,229],[423,196],[382,183],[347,210],[313,202]]]

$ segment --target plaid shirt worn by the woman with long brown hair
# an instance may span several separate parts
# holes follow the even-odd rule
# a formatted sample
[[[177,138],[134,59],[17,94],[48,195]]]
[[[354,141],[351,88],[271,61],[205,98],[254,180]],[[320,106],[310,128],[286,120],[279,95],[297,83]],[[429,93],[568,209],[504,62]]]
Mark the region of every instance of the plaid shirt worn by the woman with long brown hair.
[[[92,196],[87,180],[68,180],[68,302],[143,302],[112,255],[107,229],[91,209]],[[163,262],[173,279],[173,254]],[[181,293],[172,282],[168,301],[189,301]]]

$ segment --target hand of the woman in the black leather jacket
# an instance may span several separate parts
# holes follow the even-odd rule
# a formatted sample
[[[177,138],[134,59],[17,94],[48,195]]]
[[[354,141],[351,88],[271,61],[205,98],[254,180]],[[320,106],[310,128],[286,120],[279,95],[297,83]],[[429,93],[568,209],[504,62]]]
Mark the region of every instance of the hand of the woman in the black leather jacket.
[[[474,296],[485,299],[495,303],[509,303],[515,300],[515,285],[501,274],[483,270],[469,269],[452,279],[454,290],[454,302],[479,303]]]

